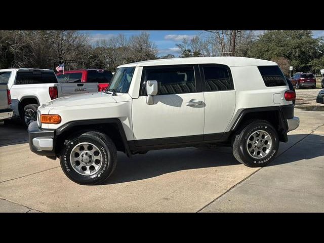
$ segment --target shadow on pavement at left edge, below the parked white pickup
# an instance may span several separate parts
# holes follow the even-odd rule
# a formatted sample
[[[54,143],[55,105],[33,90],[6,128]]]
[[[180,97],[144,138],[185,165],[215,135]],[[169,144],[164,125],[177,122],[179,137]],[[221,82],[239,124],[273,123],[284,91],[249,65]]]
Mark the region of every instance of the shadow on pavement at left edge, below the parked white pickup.
[[[5,124],[0,125],[0,147],[22,143],[28,143],[27,128],[20,119],[5,120]]]

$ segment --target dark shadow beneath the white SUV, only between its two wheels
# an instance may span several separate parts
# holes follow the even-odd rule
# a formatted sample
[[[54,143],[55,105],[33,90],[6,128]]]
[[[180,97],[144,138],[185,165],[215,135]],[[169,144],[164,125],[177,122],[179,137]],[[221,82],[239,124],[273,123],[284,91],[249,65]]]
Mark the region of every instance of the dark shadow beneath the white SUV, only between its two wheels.
[[[115,184],[148,179],[176,171],[240,165],[231,153],[200,149],[165,149],[148,151],[129,159],[118,153],[117,167],[112,176],[103,184]]]

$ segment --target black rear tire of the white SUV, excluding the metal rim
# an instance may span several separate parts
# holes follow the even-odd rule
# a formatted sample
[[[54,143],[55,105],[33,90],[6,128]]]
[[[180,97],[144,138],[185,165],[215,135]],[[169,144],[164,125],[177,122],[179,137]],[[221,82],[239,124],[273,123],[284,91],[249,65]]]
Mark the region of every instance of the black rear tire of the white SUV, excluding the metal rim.
[[[263,158],[254,158],[251,156],[247,148],[247,140],[255,131],[263,130],[267,132],[272,139],[272,146],[268,155]],[[232,142],[232,149],[234,157],[241,163],[248,167],[264,167],[268,165],[278,152],[279,137],[273,126],[266,120],[250,120],[245,126],[240,129]]]

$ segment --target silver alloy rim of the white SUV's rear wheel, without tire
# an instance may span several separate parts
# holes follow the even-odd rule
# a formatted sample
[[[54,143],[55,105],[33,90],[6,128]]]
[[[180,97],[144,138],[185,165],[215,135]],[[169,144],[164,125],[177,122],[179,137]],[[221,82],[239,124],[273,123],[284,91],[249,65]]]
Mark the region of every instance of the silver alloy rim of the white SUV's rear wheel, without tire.
[[[266,131],[256,131],[251,134],[247,140],[247,149],[253,158],[263,158],[267,156],[271,148],[272,139]]]

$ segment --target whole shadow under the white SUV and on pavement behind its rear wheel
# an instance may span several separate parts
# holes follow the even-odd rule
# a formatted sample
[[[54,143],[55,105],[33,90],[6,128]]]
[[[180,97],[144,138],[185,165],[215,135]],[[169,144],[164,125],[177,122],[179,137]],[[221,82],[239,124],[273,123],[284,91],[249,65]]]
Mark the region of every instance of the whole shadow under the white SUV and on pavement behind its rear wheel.
[[[290,141],[300,142],[304,138],[302,141],[305,141],[305,143],[302,145],[297,143],[293,146],[294,142],[291,144],[293,147],[278,156],[268,166],[324,156],[324,136],[314,134],[308,135],[306,138],[305,136],[307,134],[288,135]],[[297,146],[298,150],[296,151]],[[230,147],[219,147],[213,150],[188,148],[156,150],[149,151],[144,155],[134,155],[131,159],[122,153],[118,153],[116,170],[104,184],[143,180],[182,170],[233,165],[240,165],[240,163],[232,155]]]

